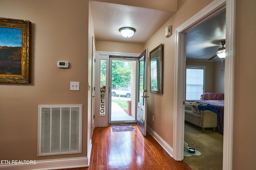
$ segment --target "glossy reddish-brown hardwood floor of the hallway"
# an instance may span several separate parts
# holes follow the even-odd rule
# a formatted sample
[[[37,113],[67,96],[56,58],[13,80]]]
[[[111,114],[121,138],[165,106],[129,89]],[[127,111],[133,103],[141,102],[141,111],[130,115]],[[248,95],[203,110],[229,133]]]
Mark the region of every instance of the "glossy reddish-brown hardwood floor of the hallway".
[[[90,166],[66,170],[191,170],[175,161],[157,142],[136,131],[112,132],[111,126],[97,127],[92,137]]]

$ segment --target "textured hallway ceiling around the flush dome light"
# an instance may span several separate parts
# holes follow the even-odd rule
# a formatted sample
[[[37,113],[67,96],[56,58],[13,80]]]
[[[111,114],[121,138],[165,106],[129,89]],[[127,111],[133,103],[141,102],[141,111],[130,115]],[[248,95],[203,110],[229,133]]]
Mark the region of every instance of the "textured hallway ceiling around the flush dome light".
[[[96,41],[145,43],[175,12],[90,1]],[[130,38],[122,37],[121,27],[136,29]]]

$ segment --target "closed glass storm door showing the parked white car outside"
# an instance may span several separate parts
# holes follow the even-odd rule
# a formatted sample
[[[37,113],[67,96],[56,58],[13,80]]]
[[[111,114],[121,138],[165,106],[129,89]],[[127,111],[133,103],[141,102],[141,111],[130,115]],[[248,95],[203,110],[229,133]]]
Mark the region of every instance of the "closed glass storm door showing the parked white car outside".
[[[135,123],[136,61],[112,56],[109,61],[108,124]]]

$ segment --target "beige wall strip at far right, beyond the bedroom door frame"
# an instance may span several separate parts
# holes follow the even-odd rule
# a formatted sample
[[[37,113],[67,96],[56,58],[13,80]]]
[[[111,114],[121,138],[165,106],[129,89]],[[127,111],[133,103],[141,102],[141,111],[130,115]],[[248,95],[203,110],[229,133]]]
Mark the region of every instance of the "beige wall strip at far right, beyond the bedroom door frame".
[[[233,169],[252,170],[256,131],[256,1],[236,0]]]

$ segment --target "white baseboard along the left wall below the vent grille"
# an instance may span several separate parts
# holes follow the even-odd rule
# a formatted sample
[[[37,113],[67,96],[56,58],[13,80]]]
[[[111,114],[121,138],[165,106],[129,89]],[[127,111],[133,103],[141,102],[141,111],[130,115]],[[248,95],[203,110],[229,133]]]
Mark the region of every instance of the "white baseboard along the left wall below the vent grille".
[[[3,170],[53,170],[89,166],[88,157],[37,160],[36,164],[0,164]]]

